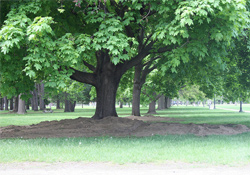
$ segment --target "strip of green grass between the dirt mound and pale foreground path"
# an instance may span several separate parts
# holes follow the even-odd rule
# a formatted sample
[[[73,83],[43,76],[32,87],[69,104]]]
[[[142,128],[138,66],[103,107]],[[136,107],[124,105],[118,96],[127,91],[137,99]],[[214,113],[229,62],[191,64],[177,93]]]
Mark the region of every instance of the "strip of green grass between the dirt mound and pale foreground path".
[[[250,134],[0,140],[0,162],[250,163]]]

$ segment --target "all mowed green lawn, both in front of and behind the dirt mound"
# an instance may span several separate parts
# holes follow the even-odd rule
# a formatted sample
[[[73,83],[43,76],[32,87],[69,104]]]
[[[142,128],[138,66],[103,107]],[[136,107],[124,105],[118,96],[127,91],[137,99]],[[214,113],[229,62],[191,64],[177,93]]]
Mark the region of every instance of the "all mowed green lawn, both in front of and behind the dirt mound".
[[[117,109],[120,117],[129,116],[131,108]],[[142,115],[147,112],[142,108]],[[156,116],[179,119],[179,123],[244,124],[250,127],[250,113],[209,110],[208,107],[174,106],[157,111]],[[75,113],[28,111],[25,115],[0,112],[0,126],[30,125],[45,120],[91,117],[93,108],[77,108]],[[215,165],[250,163],[250,133],[233,136],[167,135],[152,137],[111,136],[93,138],[1,139],[0,163],[6,162],[113,162],[164,163],[198,162]]]

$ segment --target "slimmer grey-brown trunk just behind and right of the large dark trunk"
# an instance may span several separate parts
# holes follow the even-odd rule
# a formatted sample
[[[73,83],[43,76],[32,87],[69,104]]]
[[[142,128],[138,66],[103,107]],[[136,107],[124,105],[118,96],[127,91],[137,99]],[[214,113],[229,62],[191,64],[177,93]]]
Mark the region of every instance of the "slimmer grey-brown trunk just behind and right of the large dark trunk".
[[[132,115],[141,116],[140,113],[140,96],[141,96],[141,72],[142,64],[135,66],[135,75],[134,75],[134,86],[133,86],[133,101],[132,101]]]

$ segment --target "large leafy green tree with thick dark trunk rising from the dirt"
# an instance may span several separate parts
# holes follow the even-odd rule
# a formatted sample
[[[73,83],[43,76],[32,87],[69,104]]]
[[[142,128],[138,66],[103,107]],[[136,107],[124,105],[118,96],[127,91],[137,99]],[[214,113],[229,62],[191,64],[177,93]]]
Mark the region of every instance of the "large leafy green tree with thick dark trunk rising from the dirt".
[[[116,91],[127,70],[151,58],[173,70],[190,58],[218,62],[247,18],[244,0],[20,0],[3,6],[10,10],[1,12],[0,58],[13,63],[4,64],[4,72],[19,64],[26,81],[64,87],[70,77],[93,85],[96,119],[117,116]]]

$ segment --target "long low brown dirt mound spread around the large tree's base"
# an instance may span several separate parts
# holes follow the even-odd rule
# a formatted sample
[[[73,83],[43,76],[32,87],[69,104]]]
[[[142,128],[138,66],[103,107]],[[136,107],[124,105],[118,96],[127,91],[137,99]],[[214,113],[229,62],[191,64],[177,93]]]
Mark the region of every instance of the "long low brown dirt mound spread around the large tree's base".
[[[164,117],[107,117],[102,120],[90,118],[45,121],[30,126],[7,126],[0,128],[0,138],[50,138],[95,136],[152,136],[167,134],[234,135],[250,132],[245,125],[208,125],[159,123],[171,121]],[[147,121],[147,122],[144,122]],[[157,123],[158,122],[158,123]]]

